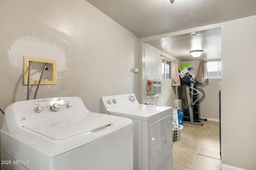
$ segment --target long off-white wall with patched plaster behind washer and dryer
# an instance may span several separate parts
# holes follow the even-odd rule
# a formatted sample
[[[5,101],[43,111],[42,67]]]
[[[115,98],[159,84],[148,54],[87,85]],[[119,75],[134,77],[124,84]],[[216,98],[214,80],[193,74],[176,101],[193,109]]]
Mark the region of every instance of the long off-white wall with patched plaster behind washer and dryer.
[[[38,98],[79,96],[98,112],[101,96],[138,94],[138,37],[86,0],[1,0],[0,16],[1,109],[26,100],[24,55],[57,61],[57,84]]]

